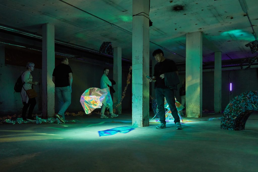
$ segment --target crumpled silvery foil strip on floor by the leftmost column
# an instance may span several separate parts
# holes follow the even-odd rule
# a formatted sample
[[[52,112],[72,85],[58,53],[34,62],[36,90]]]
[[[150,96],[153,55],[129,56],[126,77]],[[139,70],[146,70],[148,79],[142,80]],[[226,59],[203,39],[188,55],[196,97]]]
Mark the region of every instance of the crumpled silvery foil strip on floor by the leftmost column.
[[[76,122],[77,120],[69,120],[65,122]],[[7,124],[42,124],[42,123],[57,123],[57,124],[62,124],[62,122],[58,118],[47,118],[47,119],[42,119],[38,116],[36,116],[35,120],[27,120],[24,121],[22,118],[17,118],[16,120],[11,120],[11,119],[6,119],[4,120],[5,123]]]

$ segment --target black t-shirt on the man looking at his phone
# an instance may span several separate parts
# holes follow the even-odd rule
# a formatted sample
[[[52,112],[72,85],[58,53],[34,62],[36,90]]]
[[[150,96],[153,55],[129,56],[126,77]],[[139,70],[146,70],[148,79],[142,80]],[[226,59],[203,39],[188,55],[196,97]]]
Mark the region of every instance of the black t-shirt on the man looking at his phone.
[[[156,82],[154,84],[155,88],[168,88],[165,85],[165,79],[161,79],[159,76],[163,73],[178,71],[176,64],[173,60],[165,59],[163,62],[159,62],[154,67],[154,76],[156,77]]]

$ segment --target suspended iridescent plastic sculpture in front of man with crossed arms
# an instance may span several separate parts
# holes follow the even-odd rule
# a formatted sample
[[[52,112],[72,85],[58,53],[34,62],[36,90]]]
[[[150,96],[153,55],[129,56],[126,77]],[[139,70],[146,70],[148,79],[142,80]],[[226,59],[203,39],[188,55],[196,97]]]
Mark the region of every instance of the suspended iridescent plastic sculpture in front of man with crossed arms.
[[[96,108],[101,108],[102,103],[106,107],[113,105],[111,95],[108,88],[89,88],[80,98],[80,103],[86,114],[91,113]]]

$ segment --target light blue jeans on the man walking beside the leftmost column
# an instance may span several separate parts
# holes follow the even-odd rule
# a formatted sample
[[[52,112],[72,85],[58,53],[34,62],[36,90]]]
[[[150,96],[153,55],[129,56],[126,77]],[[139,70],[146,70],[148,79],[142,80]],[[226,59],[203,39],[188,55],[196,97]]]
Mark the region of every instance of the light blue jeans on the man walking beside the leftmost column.
[[[58,114],[62,115],[63,119],[65,120],[65,111],[71,104],[71,88],[70,86],[55,87],[55,93],[58,99]]]

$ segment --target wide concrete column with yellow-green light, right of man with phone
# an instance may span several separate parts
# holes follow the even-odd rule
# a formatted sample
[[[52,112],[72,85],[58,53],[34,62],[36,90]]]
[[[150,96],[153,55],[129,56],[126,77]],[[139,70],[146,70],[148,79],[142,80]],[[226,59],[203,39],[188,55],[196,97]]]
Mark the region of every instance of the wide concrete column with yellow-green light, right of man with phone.
[[[186,34],[186,116],[202,116],[203,41],[201,32]]]

